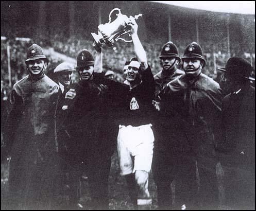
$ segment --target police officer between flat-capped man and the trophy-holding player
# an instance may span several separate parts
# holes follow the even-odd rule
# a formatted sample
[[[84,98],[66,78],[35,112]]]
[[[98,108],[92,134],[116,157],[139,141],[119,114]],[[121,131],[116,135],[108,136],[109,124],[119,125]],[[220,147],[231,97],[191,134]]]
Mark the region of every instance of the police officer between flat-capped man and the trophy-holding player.
[[[67,148],[66,163],[69,169],[69,186],[70,186],[70,207],[79,208],[81,197],[81,182],[80,178],[83,173],[83,163],[88,162],[86,156],[89,155],[93,143],[89,133],[82,134],[79,125],[86,128],[87,122],[82,122],[83,117],[92,115],[91,109],[96,109],[96,100],[99,94],[97,86],[92,82],[94,58],[90,52],[83,49],[77,56],[76,70],[80,76],[80,81],[73,83],[67,87],[68,92],[65,94],[65,100],[61,105],[62,110],[66,113],[64,121],[65,146]],[[86,93],[89,93],[87,95]],[[93,110],[94,111],[94,110]],[[90,132],[95,133],[93,128]],[[87,135],[87,136],[85,136]],[[84,142],[84,144],[83,144]],[[85,143],[86,142],[86,143]],[[89,150],[86,150],[87,147]],[[91,179],[89,177],[89,179]]]

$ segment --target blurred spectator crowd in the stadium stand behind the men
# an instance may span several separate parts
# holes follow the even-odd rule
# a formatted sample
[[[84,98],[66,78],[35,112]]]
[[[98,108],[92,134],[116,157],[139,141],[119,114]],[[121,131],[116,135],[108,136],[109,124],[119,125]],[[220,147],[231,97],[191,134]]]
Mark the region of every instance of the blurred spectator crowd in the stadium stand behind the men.
[[[24,29],[24,36],[26,35],[25,31],[29,29]],[[27,74],[25,58],[26,50],[32,43],[37,43],[44,48],[52,47],[55,51],[58,51],[66,56],[76,58],[79,50],[86,48],[93,53],[95,57],[96,51],[92,47],[93,38],[87,36],[84,38],[83,35],[77,34],[76,37],[66,36],[66,34],[59,30],[55,35],[47,34],[42,36],[37,33],[35,37],[32,37],[30,41],[15,40],[15,36],[21,36],[21,32],[9,33],[10,37],[7,37],[9,46],[10,46],[10,66],[12,73],[12,85],[23,78]],[[5,34],[6,35],[6,34]],[[1,42],[1,80],[4,84],[8,84],[8,64],[7,64],[7,40]],[[173,42],[177,45],[179,49],[180,56],[183,55],[183,51],[189,41],[184,40],[175,40]],[[153,74],[161,71],[159,55],[162,48],[162,45],[158,39],[152,39],[150,42],[143,42],[145,51],[147,52],[148,62],[152,68]],[[227,53],[227,43],[219,43],[213,45],[210,42],[200,42],[200,45],[203,48],[204,57],[206,58],[206,68],[204,68],[204,73],[213,79],[218,81],[217,71],[214,71],[214,62],[216,66],[224,66],[228,60]],[[244,57],[250,61],[252,57],[252,65],[255,66],[255,54],[250,55],[249,49],[241,47],[240,43],[232,43],[230,46],[230,56],[239,56]],[[123,66],[127,60],[132,58],[132,46],[130,43],[124,43],[122,41],[115,42],[113,47],[104,47],[104,57],[103,57],[103,71],[107,72],[108,70],[114,71],[116,73],[116,78],[119,81],[123,81]],[[213,57],[214,52],[214,57]],[[254,52],[254,51],[253,51]],[[60,61],[53,61],[49,58],[48,70],[50,68],[55,68]],[[180,64],[181,65],[181,64]],[[254,73],[253,73],[254,75]],[[7,93],[9,93],[10,87],[5,85]]]

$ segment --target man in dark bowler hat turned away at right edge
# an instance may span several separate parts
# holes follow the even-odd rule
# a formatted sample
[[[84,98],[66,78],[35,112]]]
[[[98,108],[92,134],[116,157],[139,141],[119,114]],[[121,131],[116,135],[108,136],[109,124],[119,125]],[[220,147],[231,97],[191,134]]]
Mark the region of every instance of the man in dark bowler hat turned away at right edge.
[[[224,169],[226,203],[232,209],[255,209],[255,89],[253,68],[243,58],[232,57],[220,86],[223,100],[223,139],[218,144]]]

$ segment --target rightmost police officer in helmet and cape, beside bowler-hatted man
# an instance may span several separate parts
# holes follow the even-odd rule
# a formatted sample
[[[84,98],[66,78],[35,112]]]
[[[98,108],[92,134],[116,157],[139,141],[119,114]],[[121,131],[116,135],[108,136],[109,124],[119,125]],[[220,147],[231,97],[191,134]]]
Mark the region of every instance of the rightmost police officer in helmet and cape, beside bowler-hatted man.
[[[214,148],[220,135],[221,90],[217,82],[201,73],[206,60],[196,42],[187,45],[182,61],[185,75],[169,82],[160,97],[190,125],[190,143],[200,178],[198,200],[201,208],[214,209],[218,206]]]

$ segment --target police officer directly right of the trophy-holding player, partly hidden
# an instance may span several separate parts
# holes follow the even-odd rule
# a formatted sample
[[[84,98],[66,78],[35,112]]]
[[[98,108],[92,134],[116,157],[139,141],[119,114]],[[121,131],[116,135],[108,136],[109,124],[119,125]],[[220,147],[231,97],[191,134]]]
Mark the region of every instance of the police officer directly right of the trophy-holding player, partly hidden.
[[[170,209],[172,206],[180,202],[185,203],[189,195],[185,191],[187,184],[183,179],[189,174],[186,172],[189,166],[189,159],[185,159],[190,153],[189,143],[185,134],[187,124],[184,122],[179,113],[171,112],[171,115],[165,112],[164,107],[170,108],[167,103],[160,108],[159,93],[165,88],[166,84],[174,80],[178,76],[185,74],[177,66],[181,59],[178,55],[178,49],[173,42],[167,42],[161,51],[160,55],[162,71],[154,76],[156,83],[155,100],[153,104],[159,111],[156,118],[156,145],[153,155],[153,175],[157,185],[158,206],[160,209]],[[162,104],[164,101],[161,102]],[[175,124],[172,124],[175,122]],[[187,145],[187,147],[185,147]],[[181,147],[182,146],[182,147]],[[186,168],[184,168],[186,166]],[[191,170],[191,169],[190,169]],[[177,181],[175,181],[177,179]],[[175,188],[175,184],[176,188]],[[172,184],[172,186],[171,186]],[[182,185],[182,186],[181,186]],[[173,187],[173,189],[171,188]],[[172,197],[172,192],[175,191],[175,197]],[[175,201],[172,201],[175,198]],[[181,207],[176,207],[181,208]]]

